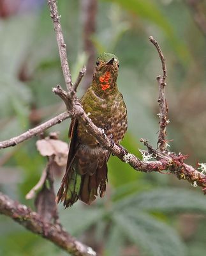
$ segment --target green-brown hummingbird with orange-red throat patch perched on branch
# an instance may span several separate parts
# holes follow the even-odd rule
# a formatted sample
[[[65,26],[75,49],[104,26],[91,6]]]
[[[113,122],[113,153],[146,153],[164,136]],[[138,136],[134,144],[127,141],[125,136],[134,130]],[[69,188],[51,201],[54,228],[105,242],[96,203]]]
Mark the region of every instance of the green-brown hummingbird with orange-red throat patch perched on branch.
[[[118,70],[119,60],[114,54],[99,54],[91,86],[80,100],[92,122],[114,143],[120,143],[128,127],[126,105],[117,88]],[[110,157],[110,152],[101,147],[77,118],[71,120],[69,138],[66,172],[57,193],[57,202],[64,202],[65,208],[78,199],[91,204],[96,196],[105,195]]]

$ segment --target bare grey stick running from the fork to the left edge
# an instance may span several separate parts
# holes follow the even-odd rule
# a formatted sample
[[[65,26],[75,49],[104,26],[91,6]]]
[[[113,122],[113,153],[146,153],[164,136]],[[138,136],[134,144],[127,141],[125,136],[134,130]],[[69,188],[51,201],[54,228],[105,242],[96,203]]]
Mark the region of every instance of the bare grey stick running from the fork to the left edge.
[[[40,124],[33,129],[29,129],[28,131],[20,134],[17,137],[13,137],[10,140],[4,140],[0,142],[0,149],[1,148],[8,148],[13,147],[22,141],[28,140],[31,137],[40,134],[41,132],[45,131],[46,129],[63,122],[63,120],[69,118],[71,115],[68,113],[68,111],[61,113],[60,115],[55,116],[54,118],[48,120],[47,122]]]

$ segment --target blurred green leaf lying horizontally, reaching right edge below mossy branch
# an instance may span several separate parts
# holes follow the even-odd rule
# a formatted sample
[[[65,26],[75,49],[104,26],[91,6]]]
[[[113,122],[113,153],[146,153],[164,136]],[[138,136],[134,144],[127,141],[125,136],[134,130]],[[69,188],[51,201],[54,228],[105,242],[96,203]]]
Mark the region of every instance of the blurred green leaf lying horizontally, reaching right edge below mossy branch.
[[[118,209],[129,207],[130,211],[206,212],[206,197],[195,191],[178,188],[152,189],[133,194],[117,202]],[[133,209],[133,210],[132,210]]]

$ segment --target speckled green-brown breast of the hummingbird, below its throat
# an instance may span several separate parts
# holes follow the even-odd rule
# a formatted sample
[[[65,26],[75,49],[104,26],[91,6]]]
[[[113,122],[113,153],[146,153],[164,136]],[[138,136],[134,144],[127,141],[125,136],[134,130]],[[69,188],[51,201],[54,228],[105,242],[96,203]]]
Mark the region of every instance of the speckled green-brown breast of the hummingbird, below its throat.
[[[105,131],[107,136],[112,135],[115,143],[119,143],[127,130],[127,112],[122,97],[112,99],[91,99],[82,102],[85,113],[92,122]],[[89,147],[98,147],[99,143],[82,124],[78,125],[78,138],[80,143]]]

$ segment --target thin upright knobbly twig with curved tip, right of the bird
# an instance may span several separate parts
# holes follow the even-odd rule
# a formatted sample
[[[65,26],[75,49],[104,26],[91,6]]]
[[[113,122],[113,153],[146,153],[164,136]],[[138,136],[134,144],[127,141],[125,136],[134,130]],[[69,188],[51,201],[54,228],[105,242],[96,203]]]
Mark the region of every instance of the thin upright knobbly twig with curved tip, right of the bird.
[[[149,37],[149,40],[154,46],[156,47],[159,58],[161,60],[161,65],[163,69],[163,76],[158,76],[158,84],[159,84],[159,97],[158,97],[158,103],[159,103],[159,136],[158,136],[158,148],[159,150],[163,151],[166,149],[166,125],[168,124],[167,120],[167,113],[168,108],[166,104],[165,99],[165,79],[166,79],[166,65],[165,65],[165,58],[163,56],[163,52],[161,51],[158,42],[152,37]]]

